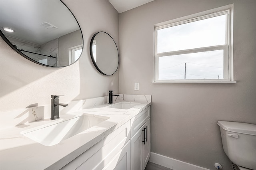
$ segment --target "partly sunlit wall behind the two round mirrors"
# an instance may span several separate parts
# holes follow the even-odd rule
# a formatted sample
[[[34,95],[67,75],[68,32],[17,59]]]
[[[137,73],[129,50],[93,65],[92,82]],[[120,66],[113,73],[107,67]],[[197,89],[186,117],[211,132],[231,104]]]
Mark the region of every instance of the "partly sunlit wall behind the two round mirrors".
[[[108,32],[118,45],[118,12],[107,0],[64,0],[78,20],[84,36],[79,61],[63,68],[50,68],[25,59],[0,38],[0,110],[50,105],[50,95],[60,101],[101,97],[108,90],[118,93],[118,72],[100,74],[90,57],[90,40],[96,32]],[[72,108],[70,108],[72,109]],[[49,113],[50,114],[50,113]]]

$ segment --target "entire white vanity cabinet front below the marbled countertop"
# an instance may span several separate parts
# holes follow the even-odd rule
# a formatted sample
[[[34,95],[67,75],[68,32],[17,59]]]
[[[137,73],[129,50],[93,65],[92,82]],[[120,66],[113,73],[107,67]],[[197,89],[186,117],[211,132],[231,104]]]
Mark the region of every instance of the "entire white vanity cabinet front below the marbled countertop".
[[[150,107],[61,170],[144,170],[150,156]]]

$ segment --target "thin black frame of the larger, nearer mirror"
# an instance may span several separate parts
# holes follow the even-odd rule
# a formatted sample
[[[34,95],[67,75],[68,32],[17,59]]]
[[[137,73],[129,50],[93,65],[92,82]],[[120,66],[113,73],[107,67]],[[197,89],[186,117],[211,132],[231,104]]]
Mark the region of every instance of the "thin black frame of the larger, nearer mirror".
[[[64,4],[64,2],[63,2],[62,0],[60,0],[60,2],[62,2],[62,4]],[[66,6],[66,4],[64,4],[64,6]],[[68,8],[68,6],[66,6],[66,8]],[[72,11],[71,11],[69,8],[68,8],[68,10],[70,11],[70,13],[73,15],[74,19],[76,20],[76,17],[75,17],[74,14],[72,13]],[[82,53],[83,53],[83,51],[84,51],[84,37],[83,37],[83,33],[82,33],[82,30],[81,30],[81,27],[80,27],[80,25],[79,25],[79,23],[78,23],[77,20],[76,20],[76,22],[77,22],[77,24],[78,24],[78,27],[79,27],[79,29],[80,29],[81,36],[82,36],[82,43],[83,43],[82,52],[81,52],[81,55],[82,55]],[[72,65],[72,64],[76,63],[76,61],[78,61],[78,60],[80,59],[80,57],[81,57],[81,55],[80,55],[79,58],[78,58],[74,63],[71,63],[71,64],[69,64],[69,65],[64,65],[64,66],[45,65],[45,64],[42,64],[42,63],[40,63],[40,62],[37,62],[37,61],[31,59],[30,57],[28,57],[28,56],[25,55],[24,53],[20,52],[20,50],[18,50],[18,49],[6,38],[6,36],[2,33],[1,30],[0,30],[0,36],[2,37],[2,39],[3,39],[10,47],[12,47],[12,49],[14,49],[14,51],[16,51],[18,54],[22,55],[22,57],[25,57],[26,59],[28,59],[28,60],[30,60],[30,61],[32,61],[32,62],[34,62],[34,63],[37,63],[37,64],[39,64],[39,65],[43,65],[43,66],[46,66],[46,67],[67,67],[67,66],[69,66],[69,65]]]

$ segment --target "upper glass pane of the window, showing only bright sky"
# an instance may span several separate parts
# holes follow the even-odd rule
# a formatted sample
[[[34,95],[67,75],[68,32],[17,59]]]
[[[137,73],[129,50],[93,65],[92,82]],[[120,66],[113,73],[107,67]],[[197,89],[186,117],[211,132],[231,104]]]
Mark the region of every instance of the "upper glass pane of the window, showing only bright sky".
[[[226,14],[157,30],[157,53],[226,44]]]

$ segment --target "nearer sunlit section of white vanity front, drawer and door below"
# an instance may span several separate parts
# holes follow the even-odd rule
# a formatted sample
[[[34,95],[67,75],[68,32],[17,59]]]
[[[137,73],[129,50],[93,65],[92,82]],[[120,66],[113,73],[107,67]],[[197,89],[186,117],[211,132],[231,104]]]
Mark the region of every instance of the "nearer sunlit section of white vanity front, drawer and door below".
[[[61,170],[130,170],[130,121]]]

